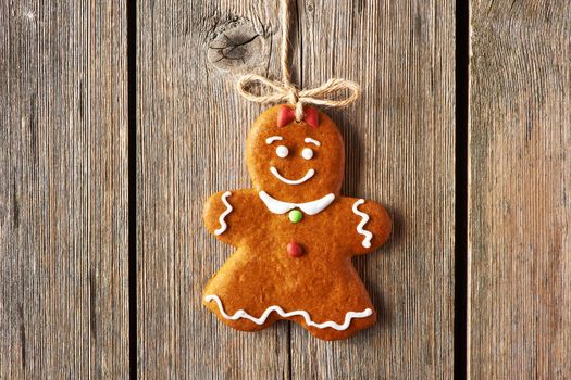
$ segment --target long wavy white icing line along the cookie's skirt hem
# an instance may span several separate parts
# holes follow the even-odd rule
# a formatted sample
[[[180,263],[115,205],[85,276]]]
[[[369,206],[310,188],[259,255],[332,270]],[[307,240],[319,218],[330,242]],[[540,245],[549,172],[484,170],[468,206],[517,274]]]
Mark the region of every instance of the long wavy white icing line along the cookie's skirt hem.
[[[248,313],[246,313],[243,309],[237,311],[236,313],[234,313],[234,315],[226,314],[226,312],[224,311],[224,306],[222,306],[222,301],[215,294],[206,295],[204,296],[204,301],[206,302],[215,301],[218,306],[219,306],[219,309],[220,309],[220,313],[222,314],[222,316],[224,318],[226,318],[226,319],[229,319],[229,320],[238,320],[240,318],[246,318],[246,319],[251,320],[256,325],[263,325],[265,322],[265,320],[268,319],[268,317],[270,316],[270,314],[272,314],[272,312],[276,312],[283,318],[300,316],[300,317],[303,317],[303,319],[306,320],[306,325],[308,325],[308,326],[316,327],[318,329],[324,329],[324,328],[330,327],[330,328],[335,329],[337,331],[347,330],[349,328],[349,325],[351,324],[351,319],[353,319],[353,318],[365,318],[365,317],[369,317],[370,315],[373,314],[372,309],[365,308],[362,312],[348,312],[347,314],[345,314],[345,321],[344,321],[343,325],[339,325],[339,324],[334,322],[332,320],[325,321],[323,324],[318,324],[318,322],[314,322],[313,320],[311,320],[311,317],[310,317],[309,313],[306,312],[306,311],[284,312],[284,309],[282,307],[277,306],[277,305],[273,305],[273,306],[268,307],[265,309],[265,312],[263,312],[263,314],[261,315],[260,318],[256,318],[256,317],[252,317],[251,315],[249,315]]]

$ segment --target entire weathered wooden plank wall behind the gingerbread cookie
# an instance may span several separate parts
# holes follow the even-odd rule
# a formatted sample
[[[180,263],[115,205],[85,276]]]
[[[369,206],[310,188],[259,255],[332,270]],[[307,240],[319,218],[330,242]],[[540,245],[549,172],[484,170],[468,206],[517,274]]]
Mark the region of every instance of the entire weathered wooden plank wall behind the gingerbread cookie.
[[[200,305],[232,252],[202,203],[249,186],[264,107],[234,83],[278,76],[277,2],[1,2],[0,378],[569,377],[571,3],[458,7],[293,3],[296,81],[364,89],[328,111],[344,192],[395,220],[356,259],[380,322],[327,343]]]

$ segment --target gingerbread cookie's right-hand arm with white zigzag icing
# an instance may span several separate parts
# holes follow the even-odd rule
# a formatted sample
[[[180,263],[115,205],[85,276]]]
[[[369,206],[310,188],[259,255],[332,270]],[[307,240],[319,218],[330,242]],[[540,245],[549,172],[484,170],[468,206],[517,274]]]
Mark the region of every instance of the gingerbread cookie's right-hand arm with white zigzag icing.
[[[352,254],[373,252],[383,245],[390,235],[393,223],[381,204],[359,198],[346,198],[350,207],[351,233],[347,241]]]

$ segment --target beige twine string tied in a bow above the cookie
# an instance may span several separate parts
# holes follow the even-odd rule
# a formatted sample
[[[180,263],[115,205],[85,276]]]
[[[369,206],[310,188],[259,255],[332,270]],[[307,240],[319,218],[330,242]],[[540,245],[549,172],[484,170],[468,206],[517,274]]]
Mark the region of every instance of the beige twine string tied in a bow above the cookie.
[[[282,46],[281,46],[281,66],[282,81],[272,80],[258,74],[247,74],[241,76],[237,83],[237,91],[244,98],[257,103],[278,103],[288,102],[296,110],[296,121],[303,118],[303,104],[323,105],[330,107],[343,107],[351,104],[361,94],[359,84],[343,79],[331,78],[323,85],[299,90],[291,81],[291,72],[289,69],[289,1],[281,0],[280,20],[282,26]],[[261,93],[252,92],[252,88],[258,84],[265,91]],[[342,99],[330,98],[342,91],[348,91],[348,96]]]

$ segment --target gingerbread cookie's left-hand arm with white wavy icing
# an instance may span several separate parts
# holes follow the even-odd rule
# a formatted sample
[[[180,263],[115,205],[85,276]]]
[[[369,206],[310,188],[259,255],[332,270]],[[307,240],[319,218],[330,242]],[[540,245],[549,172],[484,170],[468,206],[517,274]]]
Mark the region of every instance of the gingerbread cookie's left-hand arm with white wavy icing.
[[[240,208],[248,198],[246,192],[245,190],[216,192],[204,204],[202,217],[208,231],[231,245],[237,245],[244,235],[236,220],[244,213]]]

